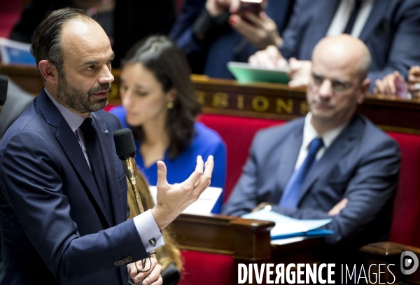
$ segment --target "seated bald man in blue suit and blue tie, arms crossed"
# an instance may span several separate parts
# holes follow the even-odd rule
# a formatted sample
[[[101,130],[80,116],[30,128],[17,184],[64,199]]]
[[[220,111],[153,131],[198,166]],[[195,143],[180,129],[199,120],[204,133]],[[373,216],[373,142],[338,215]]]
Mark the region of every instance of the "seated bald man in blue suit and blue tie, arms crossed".
[[[310,112],[255,135],[223,213],[241,216],[270,204],[293,218],[332,218],[326,243],[355,249],[387,235],[400,150],[356,114],[370,85],[365,44],[349,35],[327,37],[312,60]]]

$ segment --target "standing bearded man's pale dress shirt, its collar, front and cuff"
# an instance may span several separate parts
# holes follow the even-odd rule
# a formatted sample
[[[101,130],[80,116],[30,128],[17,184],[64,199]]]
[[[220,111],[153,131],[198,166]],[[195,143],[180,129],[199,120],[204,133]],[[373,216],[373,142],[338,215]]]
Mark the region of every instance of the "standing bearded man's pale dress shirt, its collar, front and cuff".
[[[55,100],[50,95],[50,92],[48,92],[47,88],[44,88],[44,90],[45,90],[45,93],[47,93],[48,97],[51,99],[52,103],[57,107],[58,111],[62,114],[62,116],[64,117],[64,120],[66,120],[67,124],[69,124],[71,131],[76,135],[76,138],[80,144],[80,148],[82,148],[87,164],[90,167],[90,162],[89,162],[89,158],[87,156],[87,151],[85,147],[85,137],[83,135],[83,132],[79,129],[80,125],[82,125],[85,118],[82,116],[79,116],[76,113],[73,113],[66,107],[62,106],[62,104],[59,104],[59,102],[57,102],[57,100]],[[92,113],[89,113],[87,117],[90,117],[92,118],[92,120],[95,120],[94,115]],[[151,210],[145,211],[143,214],[140,214],[139,216],[135,216],[133,218],[133,221],[134,221],[134,225],[136,225],[137,232],[139,232],[141,242],[144,244],[146,251],[148,252],[153,251],[153,249],[158,249],[158,247],[165,244],[162,237],[162,233],[160,232],[158,225],[156,225],[156,222],[155,222],[155,219],[153,218]],[[151,239],[155,239],[155,242],[156,242],[155,246],[151,244],[150,242]]]

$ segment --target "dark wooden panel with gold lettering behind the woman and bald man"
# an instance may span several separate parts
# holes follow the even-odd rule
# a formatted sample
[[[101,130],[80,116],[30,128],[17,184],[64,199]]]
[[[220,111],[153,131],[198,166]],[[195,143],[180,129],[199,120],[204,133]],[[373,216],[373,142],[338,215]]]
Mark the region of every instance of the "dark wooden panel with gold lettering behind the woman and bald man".
[[[120,104],[120,71],[113,70],[111,104]],[[35,67],[0,66],[23,89],[37,95],[43,83]],[[239,84],[236,81],[191,76],[204,113],[290,120],[307,113],[304,89],[291,90],[272,83]],[[420,101],[371,95],[358,111],[384,130],[420,134]]]

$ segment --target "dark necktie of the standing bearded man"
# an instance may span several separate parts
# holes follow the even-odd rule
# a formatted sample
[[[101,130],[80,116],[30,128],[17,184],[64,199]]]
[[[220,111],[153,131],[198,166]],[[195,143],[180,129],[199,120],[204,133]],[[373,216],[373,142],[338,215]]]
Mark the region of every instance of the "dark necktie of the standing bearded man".
[[[86,118],[83,124],[80,125],[80,130],[85,136],[85,145],[87,148],[87,157],[90,161],[90,169],[94,177],[94,181],[97,184],[99,195],[101,195],[102,202],[104,202],[105,209],[111,221],[112,219],[112,204],[109,198],[108,188],[106,183],[106,174],[104,167],[104,160],[102,159],[101,149],[97,141],[94,127],[92,125],[92,118]]]

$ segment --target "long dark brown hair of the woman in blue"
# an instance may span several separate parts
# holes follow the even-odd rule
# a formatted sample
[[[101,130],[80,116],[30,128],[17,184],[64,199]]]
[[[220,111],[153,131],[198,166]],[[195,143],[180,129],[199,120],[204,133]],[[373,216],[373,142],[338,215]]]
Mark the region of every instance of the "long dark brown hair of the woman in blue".
[[[165,124],[169,132],[168,156],[175,159],[193,140],[195,117],[202,109],[190,81],[188,61],[167,36],[149,36],[135,44],[123,60],[123,65],[135,63],[152,71],[164,92],[176,90],[174,106],[168,109]],[[144,141],[143,128],[131,128],[134,138]]]

